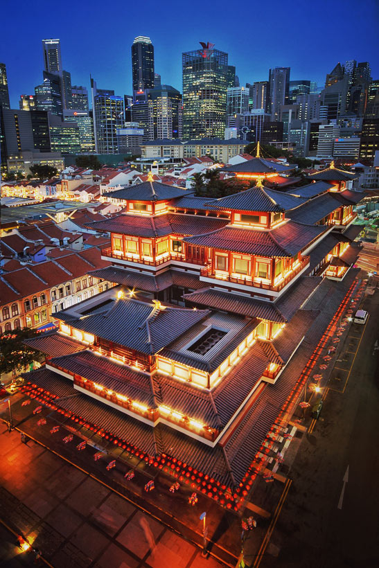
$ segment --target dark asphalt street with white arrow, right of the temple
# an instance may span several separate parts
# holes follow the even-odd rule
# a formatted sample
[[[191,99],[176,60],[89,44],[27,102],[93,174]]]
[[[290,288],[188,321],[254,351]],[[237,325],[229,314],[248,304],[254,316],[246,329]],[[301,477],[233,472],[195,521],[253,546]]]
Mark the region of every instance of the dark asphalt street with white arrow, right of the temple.
[[[321,416],[302,436],[261,568],[378,566],[378,292],[363,308],[371,317],[351,326]]]

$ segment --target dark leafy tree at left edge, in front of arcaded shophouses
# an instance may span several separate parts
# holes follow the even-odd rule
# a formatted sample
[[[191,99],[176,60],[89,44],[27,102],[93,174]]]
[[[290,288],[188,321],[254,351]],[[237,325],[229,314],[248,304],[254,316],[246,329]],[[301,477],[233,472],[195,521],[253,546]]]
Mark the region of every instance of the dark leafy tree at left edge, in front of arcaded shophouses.
[[[0,374],[21,371],[33,361],[42,361],[43,355],[23,344],[25,339],[35,337],[37,331],[24,328],[0,335]]]

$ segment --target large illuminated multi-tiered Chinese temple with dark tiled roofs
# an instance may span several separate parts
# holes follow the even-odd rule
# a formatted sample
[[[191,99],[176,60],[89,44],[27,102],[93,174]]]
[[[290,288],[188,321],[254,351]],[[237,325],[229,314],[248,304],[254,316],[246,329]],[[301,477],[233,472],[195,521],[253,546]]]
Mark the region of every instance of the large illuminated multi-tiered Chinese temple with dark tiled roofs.
[[[278,414],[263,393],[315,317],[302,306],[355,260],[364,197],[333,164],[285,192],[262,183],[285,166],[257,157],[240,168],[256,186],[220,199],[151,177],[109,194],[125,213],[89,225],[112,243],[112,266],[91,274],[114,287],[58,312],[67,350],[30,340],[47,360],[26,375],[64,412],[229,488]]]

